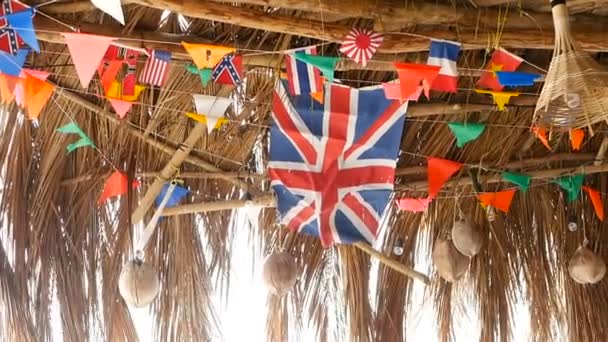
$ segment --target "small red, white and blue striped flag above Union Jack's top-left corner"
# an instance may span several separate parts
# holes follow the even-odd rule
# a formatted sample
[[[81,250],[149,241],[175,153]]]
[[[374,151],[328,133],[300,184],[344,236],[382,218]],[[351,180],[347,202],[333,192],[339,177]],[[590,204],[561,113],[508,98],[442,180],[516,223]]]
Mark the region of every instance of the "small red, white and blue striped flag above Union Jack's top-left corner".
[[[304,49],[291,50],[285,55],[289,93],[292,96],[295,96],[322,91],[323,82],[321,80],[321,71],[311,64],[297,60],[291,55],[295,52],[316,55],[317,48],[312,46]]]

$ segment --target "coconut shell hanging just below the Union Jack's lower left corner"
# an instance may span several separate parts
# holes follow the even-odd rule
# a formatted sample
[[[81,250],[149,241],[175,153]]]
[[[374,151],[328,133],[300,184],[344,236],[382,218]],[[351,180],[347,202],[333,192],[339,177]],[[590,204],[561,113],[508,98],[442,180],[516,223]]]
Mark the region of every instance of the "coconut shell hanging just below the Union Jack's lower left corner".
[[[294,257],[289,253],[273,253],[264,261],[262,276],[270,292],[282,297],[296,283],[298,265]]]

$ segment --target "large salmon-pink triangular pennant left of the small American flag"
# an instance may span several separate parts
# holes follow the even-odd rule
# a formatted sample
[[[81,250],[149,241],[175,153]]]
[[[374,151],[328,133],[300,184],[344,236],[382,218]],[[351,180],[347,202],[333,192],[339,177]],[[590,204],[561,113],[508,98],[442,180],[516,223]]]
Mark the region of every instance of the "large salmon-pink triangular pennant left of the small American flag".
[[[62,33],[83,88],[88,88],[113,37],[84,33]]]

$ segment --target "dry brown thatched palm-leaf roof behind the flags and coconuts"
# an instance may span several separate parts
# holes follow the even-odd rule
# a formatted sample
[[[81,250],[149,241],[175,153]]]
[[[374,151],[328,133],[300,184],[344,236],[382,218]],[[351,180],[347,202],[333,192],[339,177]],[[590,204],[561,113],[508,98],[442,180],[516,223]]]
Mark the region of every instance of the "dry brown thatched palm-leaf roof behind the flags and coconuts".
[[[24,1],[29,5],[43,2]],[[27,66],[49,71],[57,90],[39,125],[24,119],[15,104],[3,107],[0,316],[4,323],[0,334],[5,340],[52,340],[54,294],[65,340],[99,340],[100,336],[108,341],[137,340],[129,310],[118,293],[117,277],[121,265],[133,257],[134,224],[152,216],[153,210],[144,210],[142,203],[156,197],[160,179],[173,177],[174,166],[192,192],[185,206],[161,221],[148,246],[146,256],[159,270],[162,284],[150,307],[154,317],[150,329],[159,341],[214,339],[218,308],[211,298],[229,288],[230,257],[236,248],[233,239],[236,232],[249,228],[237,225],[241,221],[232,219],[233,210],[201,212],[204,203],[241,203],[245,192],[267,200],[269,99],[280,74],[280,51],[322,44],[326,55],[338,55],[337,43],[352,26],[387,33],[367,68],[340,61],[337,78],[354,87],[394,79],[390,61],[424,62],[428,49],[424,37],[457,40],[465,50],[459,59],[462,89],[458,94],[433,94],[431,101],[410,107],[396,197],[424,194],[424,156],[466,163],[467,169],[480,173],[486,191],[507,187],[498,175],[507,168],[538,179],[527,193],[517,194],[507,215],[499,214],[493,223],[478,205],[466,171],[457,176],[460,182],[444,187],[424,214],[391,208],[377,247],[428,274],[432,282],[424,291],[415,290],[412,280],[388,268],[371,267],[370,258],[351,246],[325,250],[316,239],[288,233],[278,226],[274,208],[265,209],[259,226],[247,231],[249,248],[255,255],[289,251],[301,270],[290,295],[269,296],[269,340],[297,340],[302,326],[310,324],[318,341],[402,341],[417,319],[418,309],[412,303],[421,300],[432,307],[436,334],[442,341],[452,340],[456,329],[464,329],[458,322],[465,312],[478,318],[481,341],[510,341],[518,329],[514,317],[518,303],[529,310],[535,341],[608,340],[606,281],[578,285],[566,269],[583,234],[594,251],[608,258],[608,249],[603,247],[608,233],[592,207],[582,201],[568,209],[581,228],[568,231],[564,196],[549,178],[584,166],[586,184],[607,193],[608,178],[602,172],[608,169],[593,166],[595,159],[604,159],[596,155],[606,125],[593,127],[595,135],[586,138],[581,152],[571,153],[568,135],[558,133],[550,137],[554,151],[548,151],[529,129],[540,85],[514,98],[508,112],[495,111],[489,97],[471,90],[487,53],[498,45],[547,69],[553,46],[548,1],[122,2],[124,27],[87,0],[40,7],[46,15],[38,14],[34,24],[42,51],[33,54]],[[569,7],[575,39],[605,64],[608,2],[572,0]],[[164,11],[171,13],[166,16]],[[177,14],[185,20],[180,21]],[[96,96],[102,93],[98,80],[88,89],[81,88],[60,35],[71,31],[65,24],[82,32],[120,37],[125,46],[173,52],[167,85],[146,89],[127,119],[117,119],[108,102]],[[246,85],[236,91],[215,84],[203,87],[198,76],[184,68],[190,59],[181,41],[237,47],[248,69]],[[207,134],[204,125],[183,115],[193,110],[192,93],[231,94],[238,110],[227,114],[229,124]],[[68,117],[79,123],[105,157],[94,149],[65,153],[71,141],[55,130]],[[460,149],[446,125],[453,120],[484,122],[487,130]],[[112,172],[111,164],[143,184],[116,206],[99,206],[97,198]],[[475,169],[478,165],[484,168]],[[429,256],[435,239],[452,226],[456,197],[469,219],[481,227],[485,240],[466,278],[450,285],[435,274]],[[405,247],[400,257],[391,254],[398,239]],[[338,317],[341,320],[336,321]]]

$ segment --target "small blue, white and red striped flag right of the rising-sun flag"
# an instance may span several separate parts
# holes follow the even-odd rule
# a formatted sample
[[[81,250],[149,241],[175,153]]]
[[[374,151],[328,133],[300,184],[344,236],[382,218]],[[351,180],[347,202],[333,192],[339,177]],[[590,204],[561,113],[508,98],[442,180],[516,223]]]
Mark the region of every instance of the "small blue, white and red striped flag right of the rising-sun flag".
[[[440,66],[439,75],[431,89],[455,93],[458,89],[458,69],[456,61],[460,52],[460,43],[447,40],[431,40],[429,59],[426,64]]]

